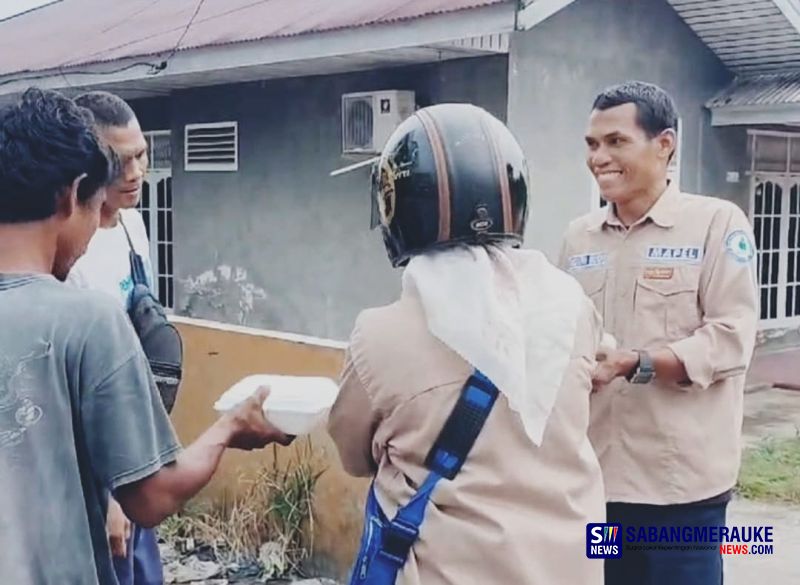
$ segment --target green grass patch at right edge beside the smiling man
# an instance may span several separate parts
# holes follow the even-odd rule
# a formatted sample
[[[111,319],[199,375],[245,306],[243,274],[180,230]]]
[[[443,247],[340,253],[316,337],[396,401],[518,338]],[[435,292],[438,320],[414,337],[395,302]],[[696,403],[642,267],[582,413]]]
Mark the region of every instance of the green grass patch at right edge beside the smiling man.
[[[800,504],[800,436],[747,449],[736,490],[751,500]]]

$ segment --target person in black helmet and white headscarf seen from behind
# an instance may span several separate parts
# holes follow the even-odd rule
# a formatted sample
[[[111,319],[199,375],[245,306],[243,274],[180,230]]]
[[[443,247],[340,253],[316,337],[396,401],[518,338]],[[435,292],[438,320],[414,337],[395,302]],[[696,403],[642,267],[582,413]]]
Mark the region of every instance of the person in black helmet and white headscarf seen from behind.
[[[359,315],[329,419],[345,469],[373,477],[352,585],[602,583],[600,323],[519,249],[529,188],[514,137],[467,104],[417,111],[375,165],[373,224],[405,271]]]

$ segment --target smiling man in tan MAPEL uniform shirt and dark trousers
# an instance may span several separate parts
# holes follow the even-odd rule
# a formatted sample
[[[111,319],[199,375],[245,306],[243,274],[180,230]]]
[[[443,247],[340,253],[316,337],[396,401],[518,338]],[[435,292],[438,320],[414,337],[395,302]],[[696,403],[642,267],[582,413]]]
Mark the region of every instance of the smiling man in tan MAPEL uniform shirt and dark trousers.
[[[587,162],[609,205],[570,225],[560,259],[620,347],[598,356],[590,437],[623,529],[724,525],[739,469],[755,247],[737,206],[668,182],[676,125],[656,86],[597,97]],[[718,548],[606,561],[606,585],[721,582]]]

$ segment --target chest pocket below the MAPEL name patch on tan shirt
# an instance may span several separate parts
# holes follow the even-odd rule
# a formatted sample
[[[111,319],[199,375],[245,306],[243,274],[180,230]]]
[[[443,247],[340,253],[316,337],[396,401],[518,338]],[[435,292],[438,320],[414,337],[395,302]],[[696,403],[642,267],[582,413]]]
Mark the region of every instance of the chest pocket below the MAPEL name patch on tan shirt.
[[[699,267],[674,267],[672,278],[638,276],[634,294],[635,336],[642,346],[672,342],[702,324],[698,300]]]

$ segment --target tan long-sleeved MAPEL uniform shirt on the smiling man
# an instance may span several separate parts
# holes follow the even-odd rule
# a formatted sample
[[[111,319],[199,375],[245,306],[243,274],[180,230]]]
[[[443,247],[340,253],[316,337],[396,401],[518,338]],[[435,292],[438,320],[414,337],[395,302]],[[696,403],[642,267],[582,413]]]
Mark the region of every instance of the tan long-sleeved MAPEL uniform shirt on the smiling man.
[[[618,379],[592,395],[608,501],[676,504],[732,488],[757,326],[752,230],[734,204],[670,187],[630,229],[613,207],[574,221],[559,264],[622,349],[669,347],[691,384]]]

